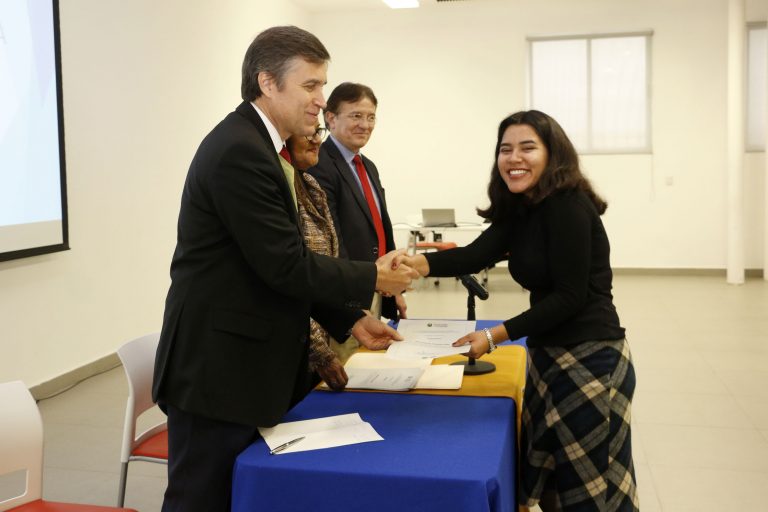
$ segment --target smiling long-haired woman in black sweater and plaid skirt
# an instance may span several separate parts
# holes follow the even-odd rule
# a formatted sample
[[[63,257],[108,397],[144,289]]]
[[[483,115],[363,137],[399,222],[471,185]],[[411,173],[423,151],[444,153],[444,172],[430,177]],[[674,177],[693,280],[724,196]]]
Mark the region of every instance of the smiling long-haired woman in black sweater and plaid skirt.
[[[488,185],[491,226],[467,247],[403,258],[422,275],[479,272],[509,253],[530,308],[467,345],[481,357],[528,337],[520,504],[544,512],[639,510],[630,438],[635,371],[613,305],[610,246],[592,189],[560,125],[518,112],[499,125]]]

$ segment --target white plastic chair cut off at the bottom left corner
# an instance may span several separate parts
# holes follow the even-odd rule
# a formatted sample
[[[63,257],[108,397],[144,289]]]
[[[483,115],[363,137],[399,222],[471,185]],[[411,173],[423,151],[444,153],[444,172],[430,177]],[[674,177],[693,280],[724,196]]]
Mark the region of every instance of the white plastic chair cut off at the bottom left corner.
[[[0,476],[26,472],[24,492],[0,501],[0,511],[136,512],[133,509],[45,501],[43,496],[43,420],[35,399],[21,381],[0,383]],[[2,497],[0,497],[2,500]]]

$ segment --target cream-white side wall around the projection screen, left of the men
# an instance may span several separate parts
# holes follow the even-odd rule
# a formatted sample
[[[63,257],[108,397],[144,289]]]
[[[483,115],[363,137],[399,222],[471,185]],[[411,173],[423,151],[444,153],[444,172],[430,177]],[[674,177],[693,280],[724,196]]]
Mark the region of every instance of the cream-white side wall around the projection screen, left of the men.
[[[72,250],[0,263],[0,381],[33,386],[159,330],[179,198],[289,2],[62,0]]]

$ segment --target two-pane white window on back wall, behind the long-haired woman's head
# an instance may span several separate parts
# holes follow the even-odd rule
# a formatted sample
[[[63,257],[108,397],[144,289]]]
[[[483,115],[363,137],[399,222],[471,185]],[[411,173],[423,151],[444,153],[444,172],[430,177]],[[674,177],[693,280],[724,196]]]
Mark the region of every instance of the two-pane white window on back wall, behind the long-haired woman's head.
[[[650,33],[530,38],[531,108],[581,153],[647,153]]]

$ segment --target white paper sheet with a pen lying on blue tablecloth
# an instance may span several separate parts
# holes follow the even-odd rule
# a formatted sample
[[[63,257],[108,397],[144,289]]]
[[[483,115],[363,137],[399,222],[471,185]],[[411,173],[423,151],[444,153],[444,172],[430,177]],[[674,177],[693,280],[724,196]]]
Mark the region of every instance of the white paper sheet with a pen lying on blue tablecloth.
[[[384,440],[358,413],[280,423],[271,428],[259,428],[259,433],[270,450],[304,436],[276,455]]]

